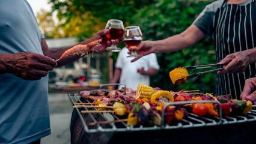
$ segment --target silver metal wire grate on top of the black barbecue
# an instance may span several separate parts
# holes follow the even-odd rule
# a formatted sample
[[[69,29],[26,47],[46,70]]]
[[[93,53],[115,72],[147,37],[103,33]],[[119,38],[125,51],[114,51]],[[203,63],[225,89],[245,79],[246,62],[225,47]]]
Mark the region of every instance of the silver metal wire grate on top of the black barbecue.
[[[90,103],[90,101],[85,100],[81,101],[81,95],[79,94],[68,94],[70,100],[74,104],[75,103]],[[184,102],[176,102],[175,104],[186,104],[193,103],[194,101],[184,101]],[[195,103],[218,103],[216,101],[197,101]],[[171,105],[173,103],[166,104],[166,106]],[[219,103],[218,103],[219,104]],[[165,107],[166,107],[165,106]],[[87,125],[85,122],[84,113],[81,113],[81,110],[97,110],[96,108],[74,108],[78,112],[79,118],[82,121],[82,125],[84,126],[84,130],[86,133],[97,133],[97,132],[126,132],[126,131],[153,131],[153,130],[170,130],[170,129],[180,129],[180,128],[192,128],[192,127],[207,127],[207,126],[215,126],[215,125],[228,125],[228,124],[239,124],[243,122],[251,122],[256,121],[256,110],[252,110],[247,115],[235,115],[235,116],[223,116],[222,113],[219,113],[219,117],[211,117],[211,116],[197,116],[194,113],[188,113],[188,118],[183,118],[181,121],[178,121],[172,125],[164,125],[162,122],[162,126],[151,126],[145,127],[143,125],[139,126],[130,126],[127,125],[126,122],[118,122],[111,124],[97,124],[94,126]],[[164,113],[165,109],[163,110]],[[221,111],[221,110],[220,110]],[[114,113],[87,113],[90,116],[92,122],[97,121],[112,121],[118,120]]]

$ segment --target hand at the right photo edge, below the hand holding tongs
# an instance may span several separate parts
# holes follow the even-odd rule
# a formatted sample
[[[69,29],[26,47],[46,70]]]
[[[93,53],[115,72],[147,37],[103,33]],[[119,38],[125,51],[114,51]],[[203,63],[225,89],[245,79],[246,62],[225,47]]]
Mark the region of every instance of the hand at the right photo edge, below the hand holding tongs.
[[[256,77],[245,80],[245,87],[240,98],[241,100],[249,100],[256,104]]]

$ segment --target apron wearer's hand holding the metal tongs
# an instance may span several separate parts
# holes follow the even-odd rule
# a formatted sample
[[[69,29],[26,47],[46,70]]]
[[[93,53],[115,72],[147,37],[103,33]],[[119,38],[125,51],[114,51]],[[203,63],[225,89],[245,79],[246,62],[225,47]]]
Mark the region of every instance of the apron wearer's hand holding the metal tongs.
[[[218,71],[218,74],[243,73],[246,67],[250,64],[248,51],[246,50],[227,55],[218,64],[228,64],[227,66],[225,66],[224,70]]]

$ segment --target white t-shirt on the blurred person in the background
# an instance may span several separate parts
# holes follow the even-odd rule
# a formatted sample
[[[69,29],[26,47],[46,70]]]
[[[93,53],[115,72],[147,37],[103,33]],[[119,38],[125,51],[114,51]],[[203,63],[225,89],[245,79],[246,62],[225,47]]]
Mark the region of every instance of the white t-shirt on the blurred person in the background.
[[[135,62],[130,62],[134,57],[126,58],[129,56],[129,54],[127,54],[128,51],[126,47],[121,49],[118,54],[117,62],[115,63],[115,68],[121,69],[120,83],[125,84],[126,88],[132,88],[133,90],[136,90],[139,84],[150,85],[150,76],[139,74],[137,70],[142,67],[144,67],[145,71],[150,68],[159,70],[156,54],[151,53]],[[123,85],[118,86],[118,89],[121,89],[121,87],[123,87]]]

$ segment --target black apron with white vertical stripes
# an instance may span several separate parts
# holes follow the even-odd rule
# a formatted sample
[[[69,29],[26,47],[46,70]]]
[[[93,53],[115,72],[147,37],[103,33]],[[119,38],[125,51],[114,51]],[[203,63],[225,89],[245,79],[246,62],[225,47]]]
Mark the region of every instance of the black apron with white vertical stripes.
[[[216,62],[225,56],[256,47],[256,0],[249,4],[227,4],[216,11],[213,17],[213,43]],[[240,99],[245,80],[255,77],[256,63],[250,64],[244,73],[216,76],[216,95],[231,94]]]

